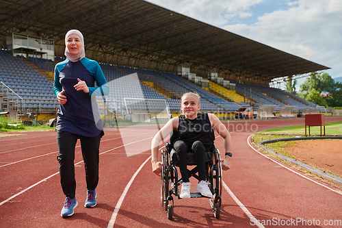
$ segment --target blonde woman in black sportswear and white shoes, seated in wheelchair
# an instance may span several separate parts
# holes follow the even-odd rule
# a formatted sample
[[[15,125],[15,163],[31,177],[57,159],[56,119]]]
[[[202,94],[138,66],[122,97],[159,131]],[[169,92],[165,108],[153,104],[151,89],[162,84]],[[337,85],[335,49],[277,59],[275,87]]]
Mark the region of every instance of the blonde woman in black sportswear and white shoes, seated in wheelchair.
[[[179,170],[183,179],[182,190],[179,197],[190,198],[190,182],[187,172],[187,153],[194,153],[198,166],[198,183],[196,190],[205,197],[212,197],[211,190],[205,181],[205,152],[215,149],[213,141],[214,132],[218,132],[224,138],[225,157],[220,160],[222,169],[228,170],[231,166],[231,135],[217,116],[210,113],[199,113],[200,96],[195,92],[187,92],[181,98],[180,116],[176,116],[164,125],[151,142],[153,173],[161,175],[161,166],[158,162],[159,143],[171,135],[174,130],[178,136],[174,140],[173,147],[176,150]]]

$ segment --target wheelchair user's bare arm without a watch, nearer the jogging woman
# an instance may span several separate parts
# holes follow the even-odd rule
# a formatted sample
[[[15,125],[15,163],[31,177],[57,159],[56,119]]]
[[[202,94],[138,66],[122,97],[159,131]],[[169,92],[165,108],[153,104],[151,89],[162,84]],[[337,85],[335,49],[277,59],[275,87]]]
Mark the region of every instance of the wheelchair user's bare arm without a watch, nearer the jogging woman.
[[[158,162],[158,151],[159,151],[159,143],[164,140],[166,137],[168,137],[174,129],[178,128],[179,124],[179,118],[174,117],[166,123],[161,129],[155,134],[155,137],[153,137],[153,140],[151,142],[151,154],[152,154],[152,170],[153,173],[160,175],[161,173],[161,166],[163,166],[163,161]]]

